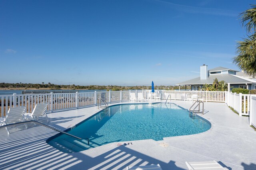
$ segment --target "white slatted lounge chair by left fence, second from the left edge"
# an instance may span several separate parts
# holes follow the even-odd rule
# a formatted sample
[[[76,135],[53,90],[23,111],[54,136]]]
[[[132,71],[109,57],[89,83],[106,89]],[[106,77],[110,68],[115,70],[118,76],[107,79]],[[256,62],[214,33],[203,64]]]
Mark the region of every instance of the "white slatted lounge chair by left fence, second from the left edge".
[[[38,120],[39,117],[46,117],[46,120],[49,121],[46,115],[47,106],[48,103],[36,104],[32,113],[24,113],[25,119]]]

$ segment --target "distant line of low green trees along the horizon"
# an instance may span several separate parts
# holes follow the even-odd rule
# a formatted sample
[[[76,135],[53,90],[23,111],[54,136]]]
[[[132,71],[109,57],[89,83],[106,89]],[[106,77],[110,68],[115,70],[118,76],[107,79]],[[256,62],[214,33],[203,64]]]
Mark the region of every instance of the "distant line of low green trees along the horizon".
[[[112,91],[119,91],[119,90],[136,90],[136,89],[151,89],[151,86],[99,86],[99,85],[90,85],[90,86],[79,86],[79,85],[58,85],[52,84],[48,82],[45,84],[42,82],[41,84],[32,84],[32,83],[0,83],[0,88],[49,88],[50,90],[60,90],[60,89],[67,89],[67,90],[79,90],[79,89],[86,89],[86,90],[112,90]],[[175,90],[179,89],[178,86],[154,86],[155,90]],[[181,86],[181,89],[184,87]]]

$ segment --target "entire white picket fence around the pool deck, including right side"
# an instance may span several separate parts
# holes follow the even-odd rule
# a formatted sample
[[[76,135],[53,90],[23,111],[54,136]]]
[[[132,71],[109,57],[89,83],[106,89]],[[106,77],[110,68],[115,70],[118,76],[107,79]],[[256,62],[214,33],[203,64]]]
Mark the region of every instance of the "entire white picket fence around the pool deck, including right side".
[[[232,92],[210,91],[176,91],[176,90],[126,90],[84,93],[48,93],[48,94],[12,94],[0,95],[0,117],[4,117],[10,107],[27,106],[32,112],[36,104],[48,103],[48,111],[72,109],[86,106],[96,106],[98,99],[103,98],[108,103],[130,100],[130,93],[142,93],[148,100],[188,100],[192,95],[205,102],[225,102],[234,108],[240,116],[250,115],[250,124],[256,127],[256,95],[236,94]]]

